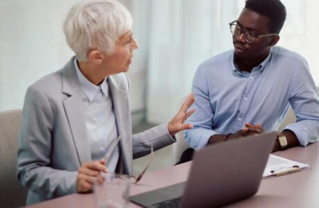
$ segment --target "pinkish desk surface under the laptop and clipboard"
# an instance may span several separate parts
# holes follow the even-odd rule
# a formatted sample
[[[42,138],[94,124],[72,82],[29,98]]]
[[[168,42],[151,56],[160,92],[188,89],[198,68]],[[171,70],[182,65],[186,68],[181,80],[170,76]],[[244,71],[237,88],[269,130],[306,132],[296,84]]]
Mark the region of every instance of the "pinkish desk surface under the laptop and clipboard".
[[[288,159],[310,164],[312,168],[297,173],[261,180],[257,194],[227,207],[319,207],[319,143],[307,148],[295,147],[275,153]],[[139,185],[131,187],[131,194],[143,193],[187,180],[191,162],[146,173]],[[78,194],[42,202],[41,207],[95,207],[93,193]],[[130,203],[129,207],[139,207]]]

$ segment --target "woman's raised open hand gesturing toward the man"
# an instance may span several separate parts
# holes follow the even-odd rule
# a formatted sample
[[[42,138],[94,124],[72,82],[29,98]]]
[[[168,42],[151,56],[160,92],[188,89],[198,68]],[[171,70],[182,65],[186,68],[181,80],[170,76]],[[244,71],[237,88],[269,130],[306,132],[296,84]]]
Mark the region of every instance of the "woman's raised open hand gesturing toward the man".
[[[171,121],[169,121],[169,125],[167,126],[167,129],[169,130],[169,134],[173,137],[177,132],[181,130],[186,130],[189,128],[193,128],[192,124],[184,123],[186,119],[193,114],[195,111],[194,109],[187,110],[191,105],[195,102],[195,98],[193,94],[189,94],[187,96],[186,100],[184,101],[182,107],[180,107],[180,110],[178,111],[178,114],[176,114]]]

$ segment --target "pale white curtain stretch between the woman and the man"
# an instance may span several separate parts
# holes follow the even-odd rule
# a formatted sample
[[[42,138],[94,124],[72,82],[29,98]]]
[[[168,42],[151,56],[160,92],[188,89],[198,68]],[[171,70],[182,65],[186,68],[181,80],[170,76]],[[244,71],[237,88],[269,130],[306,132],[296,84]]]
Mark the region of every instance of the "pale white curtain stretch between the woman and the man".
[[[169,121],[191,92],[198,64],[232,47],[234,0],[151,1],[147,120]]]

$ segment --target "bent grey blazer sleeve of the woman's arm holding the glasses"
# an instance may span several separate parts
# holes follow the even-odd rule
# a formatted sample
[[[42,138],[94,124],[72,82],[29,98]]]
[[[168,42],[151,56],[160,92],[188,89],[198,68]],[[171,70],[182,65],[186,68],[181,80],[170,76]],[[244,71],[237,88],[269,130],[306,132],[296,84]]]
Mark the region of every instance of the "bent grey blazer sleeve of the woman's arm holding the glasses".
[[[29,87],[19,134],[17,177],[25,187],[48,199],[75,193],[78,174],[50,166],[53,128],[49,98],[39,87]]]

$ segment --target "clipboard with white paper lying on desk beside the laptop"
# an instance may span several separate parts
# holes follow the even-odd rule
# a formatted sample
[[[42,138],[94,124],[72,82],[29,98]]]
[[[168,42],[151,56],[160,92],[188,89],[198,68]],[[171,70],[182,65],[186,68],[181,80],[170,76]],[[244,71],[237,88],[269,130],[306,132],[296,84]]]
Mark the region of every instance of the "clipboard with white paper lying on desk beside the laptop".
[[[304,164],[301,162],[296,162],[291,159],[286,159],[284,157],[279,157],[277,155],[269,155],[266,168],[263,173],[263,177],[268,177],[271,175],[285,175],[288,173],[294,173],[301,171],[304,168],[309,168],[309,164]]]

